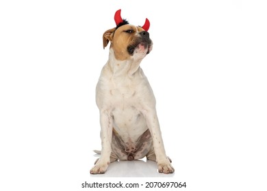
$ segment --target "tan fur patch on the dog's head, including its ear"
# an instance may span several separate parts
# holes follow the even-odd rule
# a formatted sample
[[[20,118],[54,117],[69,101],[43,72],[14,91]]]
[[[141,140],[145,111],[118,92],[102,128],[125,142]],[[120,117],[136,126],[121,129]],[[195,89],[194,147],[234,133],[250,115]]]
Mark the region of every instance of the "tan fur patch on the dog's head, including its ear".
[[[140,31],[144,31],[144,29],[134,25],[123,25],[118,27],[118,29],[109,29],[103,34],[103,48],[110,42],[110,48],[114,49],[116,59],[129,59],[131,55],[129,54],[127,47],[138,42],[140,39],[138,33]]]

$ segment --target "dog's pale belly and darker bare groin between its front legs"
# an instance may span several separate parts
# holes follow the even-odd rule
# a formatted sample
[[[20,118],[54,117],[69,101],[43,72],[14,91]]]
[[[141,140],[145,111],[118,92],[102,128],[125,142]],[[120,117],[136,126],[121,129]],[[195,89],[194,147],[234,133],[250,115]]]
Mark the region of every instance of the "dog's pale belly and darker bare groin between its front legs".
[[[112,134],[112,152],[120,160],[144,158],[152,147],[152,138],[144,116],[133,106],[116,108]]]

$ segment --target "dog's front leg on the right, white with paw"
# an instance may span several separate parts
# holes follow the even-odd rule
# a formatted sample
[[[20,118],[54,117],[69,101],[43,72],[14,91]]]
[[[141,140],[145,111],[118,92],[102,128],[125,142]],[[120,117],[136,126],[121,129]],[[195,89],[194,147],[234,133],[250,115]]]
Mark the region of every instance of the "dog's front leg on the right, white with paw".
[[[144,116],[147,120],[147,126],[152,135],[153,147],[159,173],[173,173],[175,168],[173,168],[173,166],[170,164],[170,160],[166,156],[162,134],[160,132],[160,123],[157,119],[156,111],[145,111]]]

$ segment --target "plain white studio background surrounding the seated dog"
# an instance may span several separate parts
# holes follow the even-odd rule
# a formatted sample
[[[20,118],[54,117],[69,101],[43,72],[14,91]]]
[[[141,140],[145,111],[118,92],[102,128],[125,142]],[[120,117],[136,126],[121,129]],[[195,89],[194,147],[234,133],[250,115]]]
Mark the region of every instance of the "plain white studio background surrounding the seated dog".
[[[89,175],[101,148],[94,90],[118,9],[131,24],[151,22],[141,66],[172,180],[185,190],[266,190],[267,6],[245,0],[1,1],[0,190],[99,180]]]

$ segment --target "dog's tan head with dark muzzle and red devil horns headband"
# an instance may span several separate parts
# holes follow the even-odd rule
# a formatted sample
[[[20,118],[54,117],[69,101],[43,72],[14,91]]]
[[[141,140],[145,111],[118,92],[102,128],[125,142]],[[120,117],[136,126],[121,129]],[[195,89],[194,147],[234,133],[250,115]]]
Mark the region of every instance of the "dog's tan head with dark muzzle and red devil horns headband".
[[[149,38],[149,20],[142,27],[129,25],[122,19],[120,10],[114,16],[116,27],[105,31],[103,34],[103,48],[110,42],[114,55],[118,60],[130,59],[130,57],[144,58],[152,50],[152,41]]]

